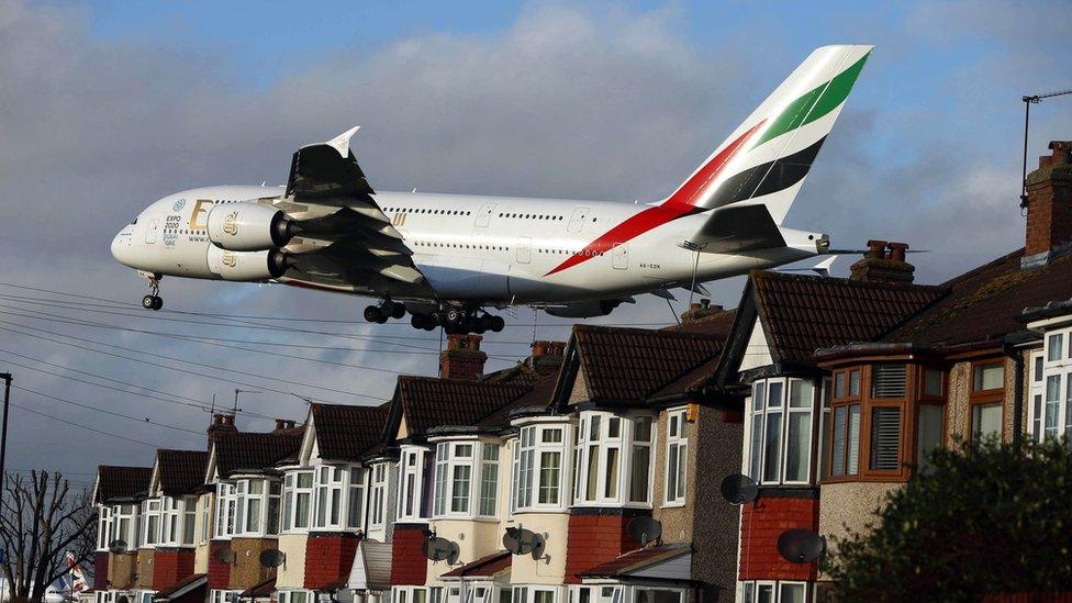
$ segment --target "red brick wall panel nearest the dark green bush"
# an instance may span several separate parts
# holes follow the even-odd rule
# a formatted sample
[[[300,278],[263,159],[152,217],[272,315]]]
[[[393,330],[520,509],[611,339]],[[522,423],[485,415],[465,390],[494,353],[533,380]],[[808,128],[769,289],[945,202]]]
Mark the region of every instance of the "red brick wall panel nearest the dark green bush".
[[[812,491],[805,491],[812,494]],[[817,563],[792,563],[778,552],[778,537],[786,529],[818,532],[819,501],[807,498],[778,498],[763,493],[741,506],[741,580],[815,580]]]

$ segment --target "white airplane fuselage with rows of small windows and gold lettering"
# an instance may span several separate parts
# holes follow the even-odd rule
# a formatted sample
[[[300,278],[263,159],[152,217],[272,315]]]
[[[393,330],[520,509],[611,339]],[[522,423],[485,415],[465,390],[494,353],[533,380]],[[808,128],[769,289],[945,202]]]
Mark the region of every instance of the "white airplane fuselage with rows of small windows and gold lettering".
[[[122,264],[156,276],[219,279],[210,267],[213,244],[204,230],[204,214],[215,204],[267,202],[282,193],[281,188],[238,186],[170,194],[146,208],[115,236],[112,254]],[[606,201],[416,192],[380,192],[375,199],[435,291],[436,300],[428,301],[555,305],[621,299],[688,287],[694,276],[696,282],[705,282],[816,255],[816,235],[789,228],[782,228],[785,247],[740,254],[697,254],[682,247],[708,220],[707,212],[660,222],[651,205]],[[304,213],[315,215],[316,208],[288,213],[302,220]],[[638,219],[645,211],[656,215]],[[615,241],[613,248],[602,253],[585,252],[630,219],[629,236],[612,235],[624,241]],[[637,224],[645,222],[648,224],[641,224],[637,233]],[[302,246],[287,249],[301,253]],[[576,255],[580,257],[562,267]],[[308,282],[294,271],[275,280],[380,294],[359,286]]]

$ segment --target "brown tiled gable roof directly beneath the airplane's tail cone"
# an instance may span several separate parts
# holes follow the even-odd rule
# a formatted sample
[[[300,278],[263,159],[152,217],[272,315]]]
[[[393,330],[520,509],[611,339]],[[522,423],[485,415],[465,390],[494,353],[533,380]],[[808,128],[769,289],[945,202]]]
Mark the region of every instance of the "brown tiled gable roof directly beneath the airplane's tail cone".
[[[752,271],[749,287],[774,359],[809,362],[818,348],[869,342],[935,303],[943,287]]]

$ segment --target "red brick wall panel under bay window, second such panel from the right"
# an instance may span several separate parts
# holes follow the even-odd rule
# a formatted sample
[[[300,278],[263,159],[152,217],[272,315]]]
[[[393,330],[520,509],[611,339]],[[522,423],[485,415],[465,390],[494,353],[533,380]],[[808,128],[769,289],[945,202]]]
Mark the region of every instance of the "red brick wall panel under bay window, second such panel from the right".
[[[636,515],[621,509],[572,510],[566,547],[566,582],[580,583],[578,572],[640,548],[627,529]]]

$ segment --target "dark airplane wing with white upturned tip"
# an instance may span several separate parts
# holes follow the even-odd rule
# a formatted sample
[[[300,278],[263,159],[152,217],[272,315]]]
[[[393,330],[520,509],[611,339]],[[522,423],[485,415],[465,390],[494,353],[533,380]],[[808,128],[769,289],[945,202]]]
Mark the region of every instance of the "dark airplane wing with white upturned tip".
[[[434,291],[413,264],[413,250],[377,205],[375,191],[350,150],[349,141],[357,130],[351,127],[294,153],[283,202],[299,211],[320,206],[316,217],[301,221],[299,235],[320,245],[295,254],[298,273],[280,280],[431,299]],[[325,208],[331,211],[323,211]],[[295,243],[301,246],[304,242]]]

